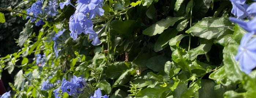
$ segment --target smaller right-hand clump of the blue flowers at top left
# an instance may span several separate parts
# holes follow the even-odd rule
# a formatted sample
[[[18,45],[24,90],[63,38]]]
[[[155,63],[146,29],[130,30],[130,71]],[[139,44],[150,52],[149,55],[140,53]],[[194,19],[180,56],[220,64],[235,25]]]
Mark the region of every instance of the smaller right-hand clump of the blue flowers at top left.
[[[57,4],[57,0],[49,1],[49,6],[45,7],[45,10],[47,11],[47,14],[49,16],[56,16],[59,12],[57,11],[57,8],[59,5]]]

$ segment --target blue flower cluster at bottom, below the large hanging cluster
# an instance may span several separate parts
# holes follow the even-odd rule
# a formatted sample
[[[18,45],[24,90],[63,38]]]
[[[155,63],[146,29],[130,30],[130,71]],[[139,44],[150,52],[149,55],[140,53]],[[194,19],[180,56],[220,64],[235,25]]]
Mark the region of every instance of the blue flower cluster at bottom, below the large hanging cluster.
[[[55,98],[60,98],[58,95],[62,94],[64,92],[67,92],[68,95],[71,95],[73,97],[77,97],[79,93],[82,93],[83,88],[86,86],[85,78],[77,77],[73,75],[73,79],[71,79],[71,82],[67,81],[65,78],[62,80],[62,84],[60,87],[53,90]]]

